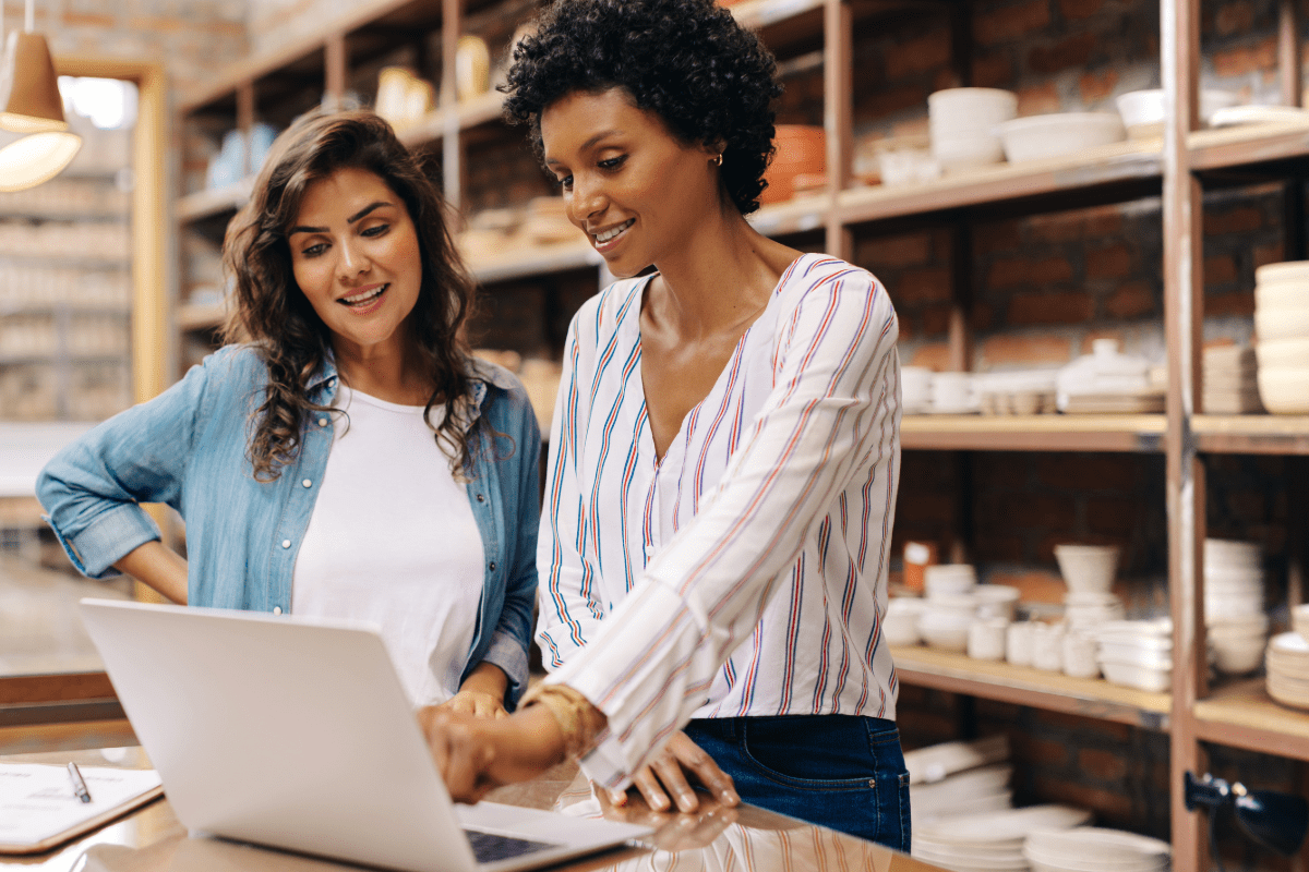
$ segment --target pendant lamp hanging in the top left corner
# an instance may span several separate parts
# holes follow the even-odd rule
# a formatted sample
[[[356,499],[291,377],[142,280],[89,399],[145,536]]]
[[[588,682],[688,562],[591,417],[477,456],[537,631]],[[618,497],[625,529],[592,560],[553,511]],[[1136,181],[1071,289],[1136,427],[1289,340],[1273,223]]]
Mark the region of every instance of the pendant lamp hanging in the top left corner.
[[[27,0],[26,26],[9,34],[0,67],[0,129],[25,135],[0,148],[0,191],[52,179],[81,149],[81,137],[64,120],[50,46],[33,33],[33,0]]]

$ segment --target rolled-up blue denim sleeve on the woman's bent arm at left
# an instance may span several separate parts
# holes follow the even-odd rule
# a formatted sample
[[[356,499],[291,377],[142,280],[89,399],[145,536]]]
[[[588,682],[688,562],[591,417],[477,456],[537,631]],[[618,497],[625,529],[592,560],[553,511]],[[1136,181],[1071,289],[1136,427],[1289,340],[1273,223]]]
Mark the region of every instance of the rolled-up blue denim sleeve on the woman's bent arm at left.
[[[84,575],[114,578],[114,563],[160,539],[140,503],[179,509],[196,414],[225,357],[211,356],[160,396],[93,428],[41,471],[37,497],[46,520]]]

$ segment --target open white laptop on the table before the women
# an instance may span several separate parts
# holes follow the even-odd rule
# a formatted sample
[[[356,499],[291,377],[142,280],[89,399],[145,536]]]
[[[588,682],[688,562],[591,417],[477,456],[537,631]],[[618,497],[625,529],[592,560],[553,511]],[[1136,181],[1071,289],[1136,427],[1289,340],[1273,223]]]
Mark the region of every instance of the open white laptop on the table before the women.
[[[651,833],[452,803],[367,625],[92,599],[81,614],[192,833],[404,872],[530,869]]]

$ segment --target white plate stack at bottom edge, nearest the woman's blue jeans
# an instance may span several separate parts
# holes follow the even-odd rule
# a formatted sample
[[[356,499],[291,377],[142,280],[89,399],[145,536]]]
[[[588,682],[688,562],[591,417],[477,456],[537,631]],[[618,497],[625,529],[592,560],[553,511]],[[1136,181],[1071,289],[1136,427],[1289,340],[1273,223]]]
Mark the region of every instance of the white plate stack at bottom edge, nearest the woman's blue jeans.
[[[915,822],[910,854],[954,872],[1020,872],[1029,868],[1022,848],[1030,833],[1071,829],[1088,820],[1090,812],[1068,805],[937,817]]]

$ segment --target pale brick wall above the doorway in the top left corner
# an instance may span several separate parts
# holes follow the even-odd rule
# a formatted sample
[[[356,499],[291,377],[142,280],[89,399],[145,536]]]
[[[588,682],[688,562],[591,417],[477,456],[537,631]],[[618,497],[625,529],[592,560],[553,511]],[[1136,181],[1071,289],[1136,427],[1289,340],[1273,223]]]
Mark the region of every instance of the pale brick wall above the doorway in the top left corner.
[[[24,4],[4,4],[5,26],[21,26]],[[242,59],[246,0],[50,0],[38,3],[37,30],[60,55],[107,55],[162,63],[177,89],[212,80]]]

